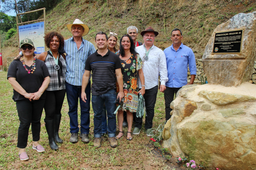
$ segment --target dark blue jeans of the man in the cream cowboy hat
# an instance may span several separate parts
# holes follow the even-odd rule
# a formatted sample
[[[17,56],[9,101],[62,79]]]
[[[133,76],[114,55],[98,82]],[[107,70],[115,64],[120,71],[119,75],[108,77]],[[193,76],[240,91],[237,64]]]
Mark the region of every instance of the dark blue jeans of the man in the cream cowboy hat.
[[[70,133],[78,133],[78,99],[80,102],[81,116],[80,116],[80,132],[89,134],[90,131],[90,82],[88,82],[85,89],[87,97],[86,102],[81,99],[81,86],[70,85],[66,82],[67,102],[69,106],[68,115],[70,117]]]

